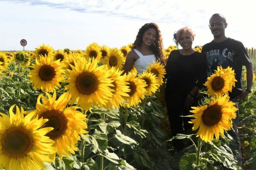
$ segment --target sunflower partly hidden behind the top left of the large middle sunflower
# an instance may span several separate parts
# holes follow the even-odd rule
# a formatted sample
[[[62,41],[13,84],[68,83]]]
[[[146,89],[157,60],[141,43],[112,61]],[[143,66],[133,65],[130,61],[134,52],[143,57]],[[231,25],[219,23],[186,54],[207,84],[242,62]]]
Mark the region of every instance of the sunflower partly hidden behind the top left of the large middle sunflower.
[[[75,66],[74,62],[87,63],[85,57],[82,57],[80,53],[69,53],[69,55],[63,60],[63,67],[68,70],[72,70],[71,65]]]

